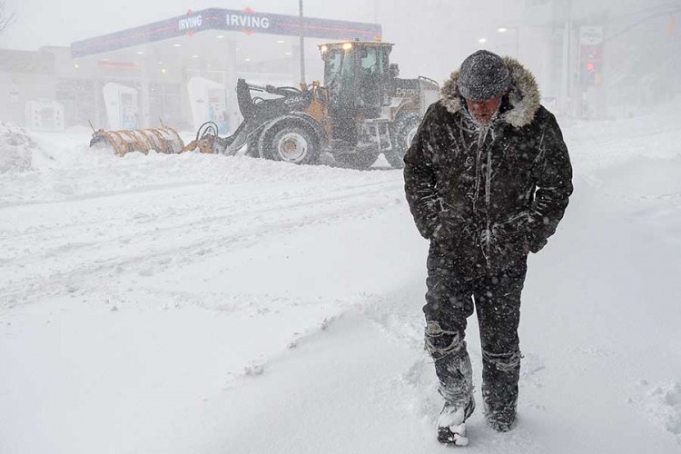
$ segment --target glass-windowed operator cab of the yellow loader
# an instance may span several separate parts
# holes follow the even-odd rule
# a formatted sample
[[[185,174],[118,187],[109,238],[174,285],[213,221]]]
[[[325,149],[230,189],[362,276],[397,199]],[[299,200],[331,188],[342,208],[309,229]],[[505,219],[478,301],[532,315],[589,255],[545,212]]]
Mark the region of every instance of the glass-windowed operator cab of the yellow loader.
[[[354,144],[358,123],[380,117],[389,100],[392,45],[357,41],[320,45],[334,138]]]

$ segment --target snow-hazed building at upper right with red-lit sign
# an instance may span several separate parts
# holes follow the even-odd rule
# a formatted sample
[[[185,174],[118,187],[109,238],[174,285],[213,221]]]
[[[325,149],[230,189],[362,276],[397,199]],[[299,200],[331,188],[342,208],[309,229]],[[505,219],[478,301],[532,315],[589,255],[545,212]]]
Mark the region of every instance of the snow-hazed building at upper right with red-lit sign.
[[[681,92],[679,15],[678,0],[525,0],[520,45],[562,113],[627,117]]]

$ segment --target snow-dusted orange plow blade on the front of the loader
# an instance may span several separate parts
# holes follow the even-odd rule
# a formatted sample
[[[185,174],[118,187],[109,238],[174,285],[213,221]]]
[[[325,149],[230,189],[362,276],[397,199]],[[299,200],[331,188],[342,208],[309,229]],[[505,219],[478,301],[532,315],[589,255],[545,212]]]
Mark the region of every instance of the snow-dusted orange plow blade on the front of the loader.
[[[133,131],[104,131],[100,129],[93,133],[90,140],[91,147],[109,147],[119,156],[125,153],[181,153],[184,143],[180,134],[173,128],[137,129]]]

